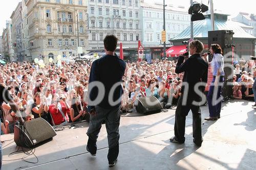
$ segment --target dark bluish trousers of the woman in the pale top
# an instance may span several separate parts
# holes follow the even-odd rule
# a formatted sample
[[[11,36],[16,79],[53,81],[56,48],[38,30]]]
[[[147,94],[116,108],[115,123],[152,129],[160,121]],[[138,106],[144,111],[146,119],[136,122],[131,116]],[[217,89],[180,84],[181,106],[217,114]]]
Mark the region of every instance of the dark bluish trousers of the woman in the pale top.
[[[219,86],[218,88],[214,86],[214,82],[215,82],[215,78],[212,79],[210,88],[209,88],[209,92],[207,95],[207,101],[208,101],[208,108],[209,108],[209,113],[210,113],[210,117],[217,117],[220,116],[221,113],[221,100],[219,102],[217,102],[216,100],[220,98],[221,96],[221,86],[223,83],[223,76],[220,77],[219,79]],[[217,98],[215,97],[214,99],[214,90],[218,90],[217,91]]]

